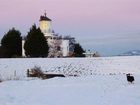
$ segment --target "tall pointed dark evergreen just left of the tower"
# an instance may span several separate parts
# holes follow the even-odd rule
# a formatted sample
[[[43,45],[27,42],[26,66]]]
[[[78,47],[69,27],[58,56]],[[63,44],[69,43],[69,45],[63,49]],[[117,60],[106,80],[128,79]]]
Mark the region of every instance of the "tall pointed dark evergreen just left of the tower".
[[[48,43],[40,28],[33,25],[25,38],[25,54],[28,57],[47,57]]]

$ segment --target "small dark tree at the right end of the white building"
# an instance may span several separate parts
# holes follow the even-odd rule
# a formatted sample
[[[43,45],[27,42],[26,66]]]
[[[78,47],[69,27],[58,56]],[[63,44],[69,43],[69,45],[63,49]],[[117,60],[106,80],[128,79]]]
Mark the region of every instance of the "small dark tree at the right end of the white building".
[[[83,48],[81,47],[81,45],[79,43],[76,43],[74,45],[74,55],[75,57],[85,57],[85,55],[83,54],[85,51],[83,50]]]

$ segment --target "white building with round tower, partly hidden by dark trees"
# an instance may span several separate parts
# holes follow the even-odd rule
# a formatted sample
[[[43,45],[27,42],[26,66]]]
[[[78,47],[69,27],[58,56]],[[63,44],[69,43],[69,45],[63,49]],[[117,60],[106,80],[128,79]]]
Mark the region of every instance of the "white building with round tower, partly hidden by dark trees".
[[[49,45],[48,57],[66,57],[70,56],[73,52],[73,44],[75,43],[75,38],[70,36],[59,36],[52,32],[51,23],[52,20],[46,16],[40,16],[39,27],[44,33]]]

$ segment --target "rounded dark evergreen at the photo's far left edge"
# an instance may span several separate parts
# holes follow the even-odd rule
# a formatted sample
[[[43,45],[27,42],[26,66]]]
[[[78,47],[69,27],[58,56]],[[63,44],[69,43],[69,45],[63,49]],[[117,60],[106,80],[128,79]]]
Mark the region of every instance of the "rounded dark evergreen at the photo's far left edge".
[[[9,30],[1,40],[2,57],[22,56],[22,37],[21,33],[15,28]]]

